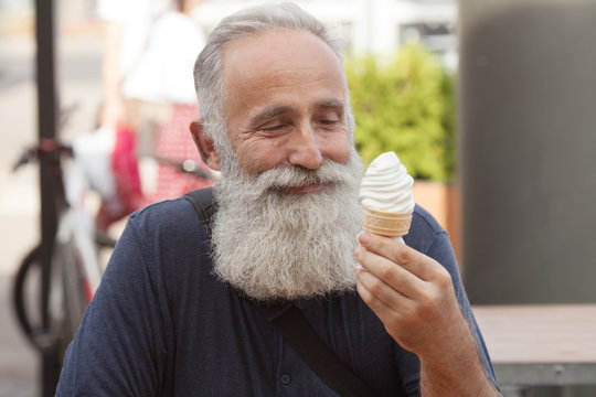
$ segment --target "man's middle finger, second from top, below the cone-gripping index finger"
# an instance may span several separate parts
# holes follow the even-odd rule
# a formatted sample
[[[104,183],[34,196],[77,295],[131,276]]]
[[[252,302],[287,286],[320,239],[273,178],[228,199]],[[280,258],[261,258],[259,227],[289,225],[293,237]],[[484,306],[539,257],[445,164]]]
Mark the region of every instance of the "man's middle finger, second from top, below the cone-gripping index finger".
[[[358,247],[354,251],[356,260],[371,273],[375,279],[381,280],[391,289],[401,294],[415,298],[418,291],[425,288],[424,280],[413,275],[408,270],[392,262],[375,253],[369,251],[363,247]]]

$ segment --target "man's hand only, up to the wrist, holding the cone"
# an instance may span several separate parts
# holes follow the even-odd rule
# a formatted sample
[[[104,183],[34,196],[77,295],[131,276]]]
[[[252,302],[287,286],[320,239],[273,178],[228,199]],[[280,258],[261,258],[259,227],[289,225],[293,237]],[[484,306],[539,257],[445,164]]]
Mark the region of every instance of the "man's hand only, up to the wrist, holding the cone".
[[[440,358],[469,333],[449,272],[405,244],[373,234],[360,236],[358,292],[400,345],[418,356]],[[445,346],[445,351],[444,347]]]

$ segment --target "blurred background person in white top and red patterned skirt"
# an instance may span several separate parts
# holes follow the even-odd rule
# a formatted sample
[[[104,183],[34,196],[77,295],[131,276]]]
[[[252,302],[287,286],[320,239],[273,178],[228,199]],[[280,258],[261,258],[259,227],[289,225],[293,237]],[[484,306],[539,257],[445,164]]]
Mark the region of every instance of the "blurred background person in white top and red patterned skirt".
[[[190,120],[198,116],[192,65],[205,40],[191,15],[199,3],[200,0],[97,2],[97,13],[106,21],[105,101],[99,125],[119,131],[115,155],[130,155],[130,151],[123,150],[124,144],[134,146],[132,157],[138,158],[137,169],[137,164],[127,161],[130,159],[115,159],[120,165],[115,172],[129,174],[120,183],[120,189],[128,189],[129,193],[125,192],[120,200],[135,203],[125,205],[124,214],[110,214],[104,208],[98,216],[100,225],[109,225],[148,203],[213,185],[209,178],[183,173],[169,163],[194,161],[211,176],[188,135]],[[132,142],[127,143],[127,139]],[[140,171],[140,198],[130,189],[136,170]]]

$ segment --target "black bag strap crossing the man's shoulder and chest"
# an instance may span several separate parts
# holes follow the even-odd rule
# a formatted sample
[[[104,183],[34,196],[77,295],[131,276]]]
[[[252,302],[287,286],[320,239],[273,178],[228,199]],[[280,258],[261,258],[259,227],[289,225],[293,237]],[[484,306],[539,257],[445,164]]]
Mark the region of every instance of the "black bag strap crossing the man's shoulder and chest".
[[[195,190],[183,197],[192,203],[211,238],[211,218],[217,210],[213,189]],[[244,298],[243,294],[241,297]],[[340,396],[372,397],[376,395],[323,342],[305,314],[292,302],[262,303],[247,300],[260,309],[310,369]]]

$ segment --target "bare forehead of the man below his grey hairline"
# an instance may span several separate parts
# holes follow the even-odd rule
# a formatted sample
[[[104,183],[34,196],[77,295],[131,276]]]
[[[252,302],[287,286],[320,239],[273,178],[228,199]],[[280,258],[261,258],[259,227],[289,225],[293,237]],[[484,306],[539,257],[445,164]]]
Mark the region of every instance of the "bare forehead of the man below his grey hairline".
[[[324,87],[345,95],[345,76],[338,56],[307,31],[270,30],[228,43],[222,77],[232,99],[238,93],[275,95],[284,89]]]

